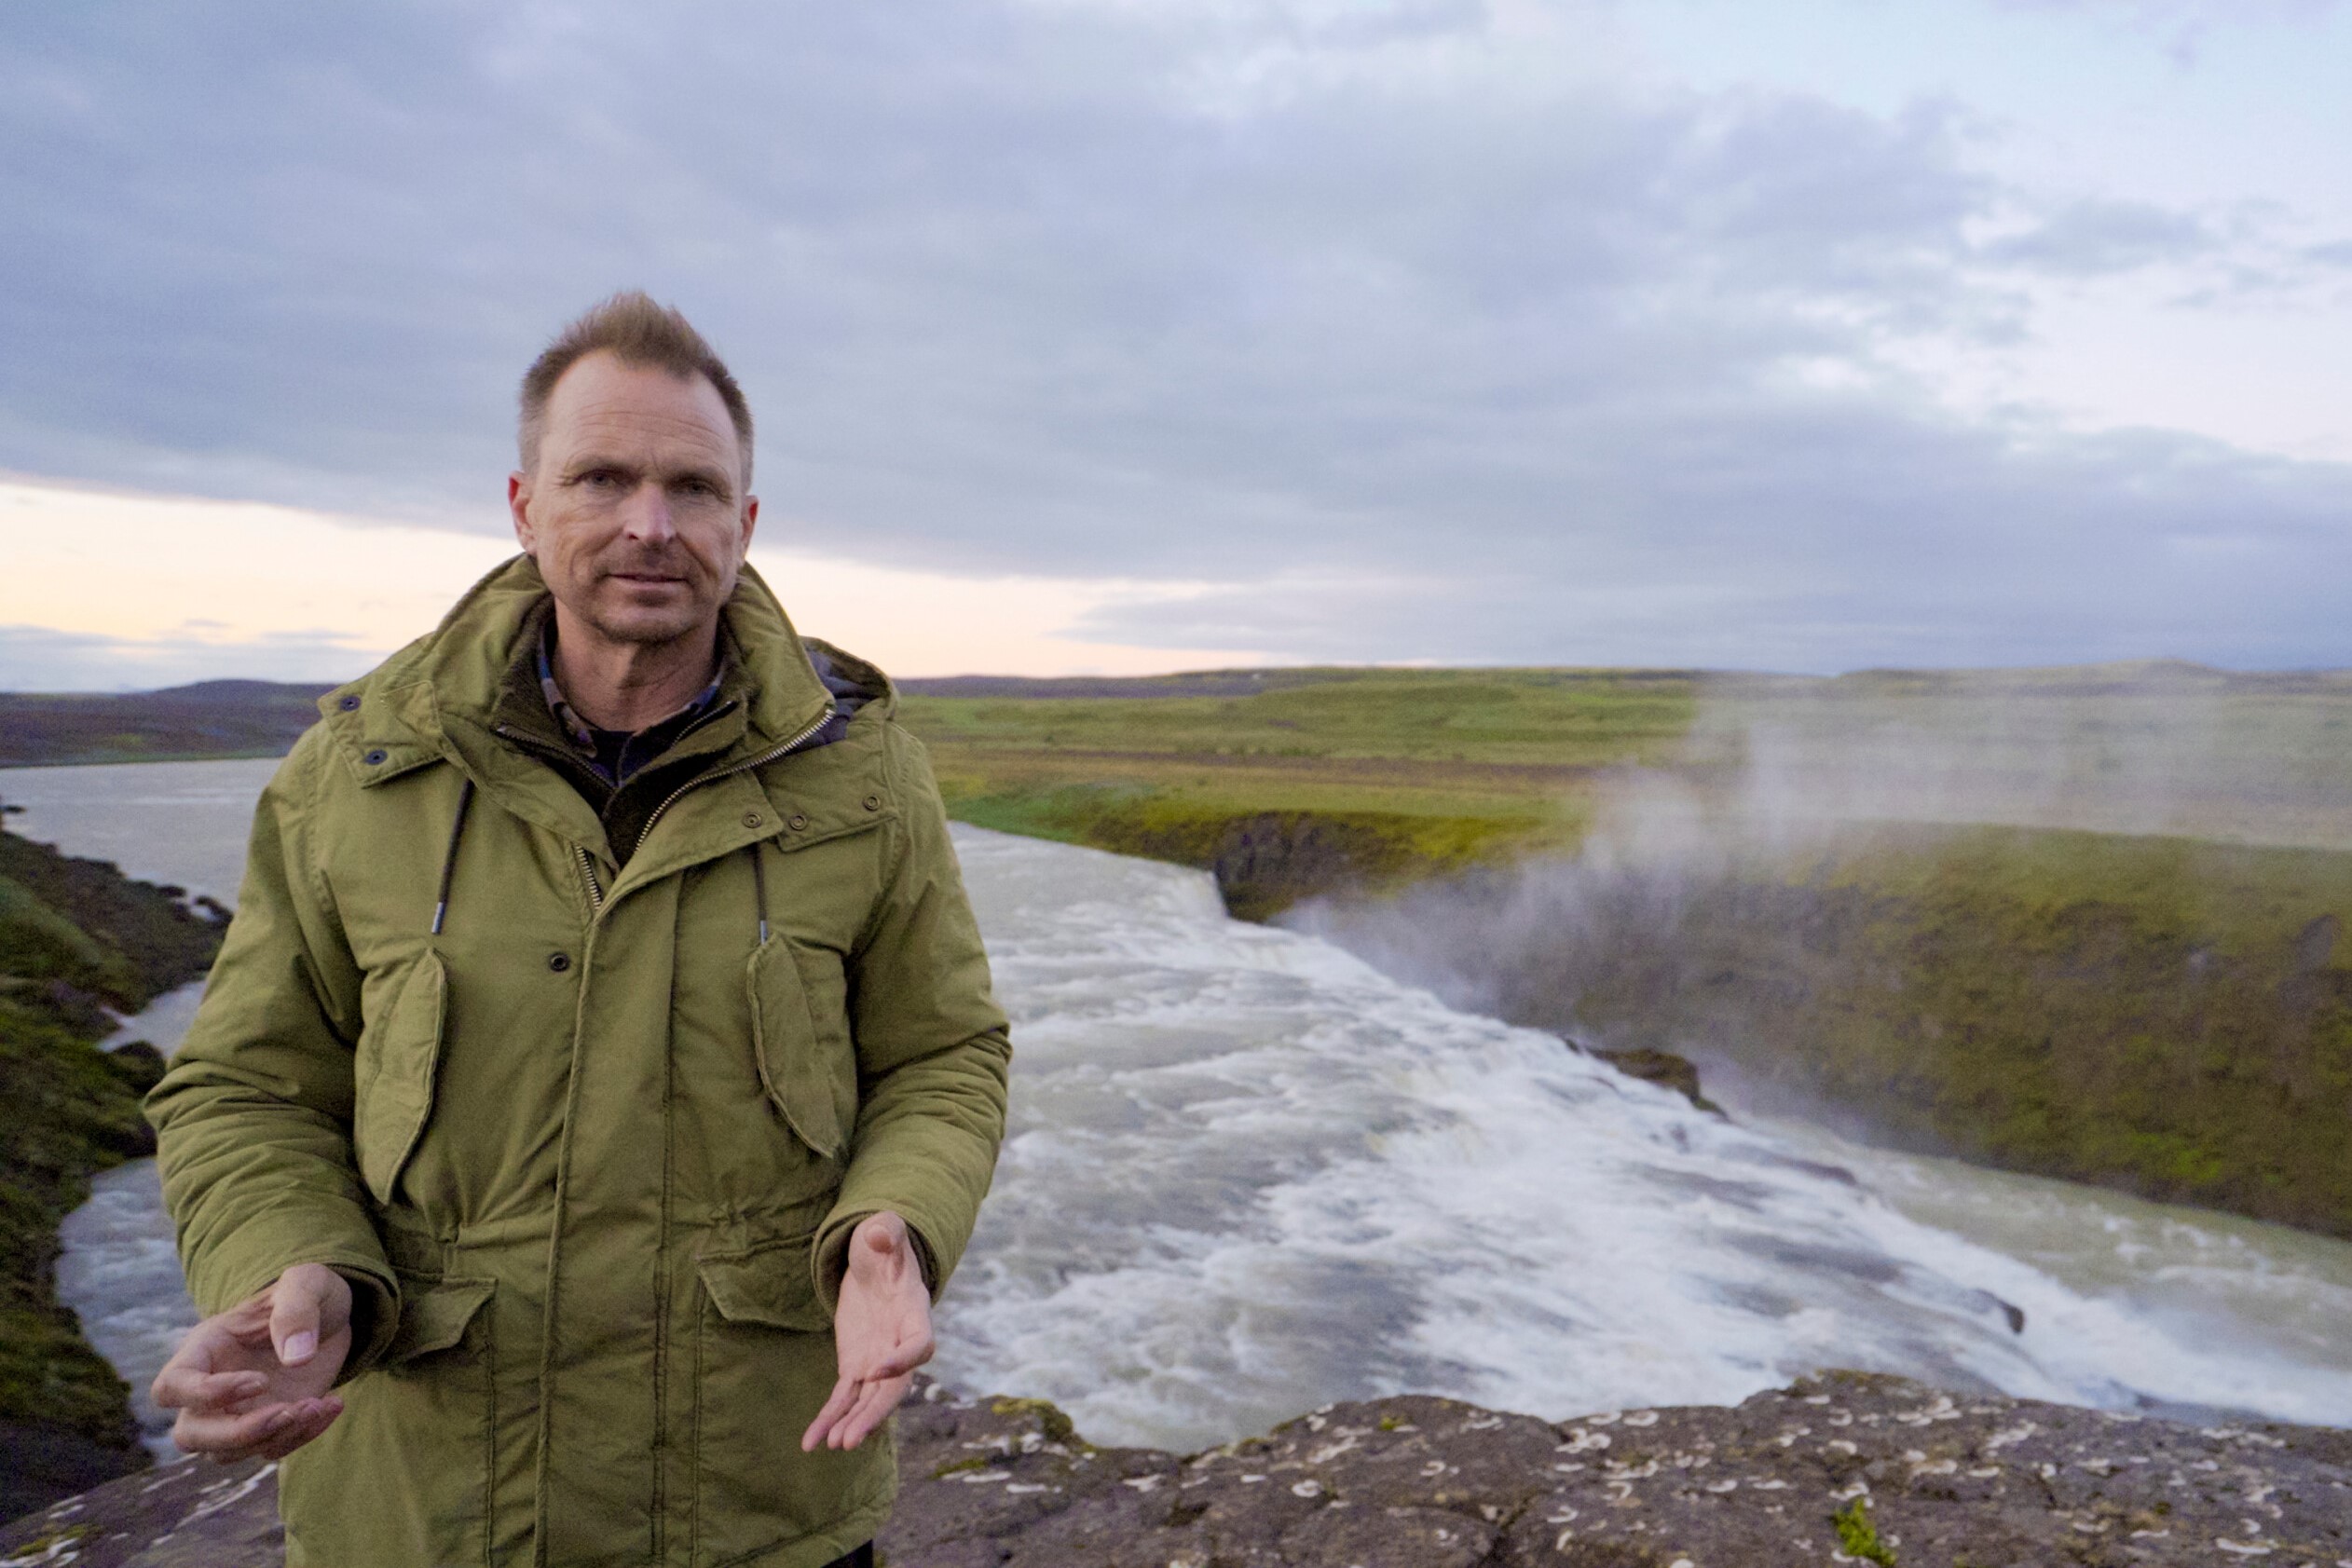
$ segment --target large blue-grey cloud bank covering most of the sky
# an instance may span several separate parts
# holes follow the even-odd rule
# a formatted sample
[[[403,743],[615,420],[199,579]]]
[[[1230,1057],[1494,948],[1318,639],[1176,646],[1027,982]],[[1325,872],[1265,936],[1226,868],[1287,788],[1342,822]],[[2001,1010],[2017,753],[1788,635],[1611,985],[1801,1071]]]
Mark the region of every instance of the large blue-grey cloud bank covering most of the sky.
[[[1889,369],[2211,226],[2093,202],[1987,254],[1952,108],[1635,96],[1494,26],[16,7],[0,465],[496,531],[513,378],[644,282],[750,386],[769,529],[1225,585],[1120,639],[2345,661],[2345,468],[1966,423]]]

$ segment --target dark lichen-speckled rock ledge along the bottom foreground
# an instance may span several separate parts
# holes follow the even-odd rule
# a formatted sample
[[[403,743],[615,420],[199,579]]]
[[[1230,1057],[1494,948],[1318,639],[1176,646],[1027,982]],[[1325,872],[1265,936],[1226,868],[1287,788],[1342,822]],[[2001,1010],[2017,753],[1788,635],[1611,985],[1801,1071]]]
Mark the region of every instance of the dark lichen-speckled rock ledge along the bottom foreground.
[[[1030,1399],[898,1413],[891,1568],[2352,1568],[2352,1432],[2187,1427],[1823,1373],[1566,1422],[1343,1403],[1195,1455]],[[0,1568],[278,1563],[270,1467],[169,1465],[0,1530]]]

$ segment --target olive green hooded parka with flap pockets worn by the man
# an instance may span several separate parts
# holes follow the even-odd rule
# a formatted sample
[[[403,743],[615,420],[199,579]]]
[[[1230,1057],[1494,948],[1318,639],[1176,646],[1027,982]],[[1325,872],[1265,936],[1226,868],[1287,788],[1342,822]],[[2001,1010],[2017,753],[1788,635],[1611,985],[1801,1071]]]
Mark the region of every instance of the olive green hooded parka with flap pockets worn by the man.
[[[851,1225],[934,1291],[1004,1131],[1004,1016],[922,748],[835,712],[753,571],[746,679],[630,853],[499,733],[529,559],[320,701],[148,1110],[205,1314],[355,1281],[296,1568],[760,1563],[870,1540],[887,1434],[800,1453]],[[821,646],[821,644],[818,644]],[[837,738],[830,738],[837,736]],[[437,907],[440,905],[440,907]]]

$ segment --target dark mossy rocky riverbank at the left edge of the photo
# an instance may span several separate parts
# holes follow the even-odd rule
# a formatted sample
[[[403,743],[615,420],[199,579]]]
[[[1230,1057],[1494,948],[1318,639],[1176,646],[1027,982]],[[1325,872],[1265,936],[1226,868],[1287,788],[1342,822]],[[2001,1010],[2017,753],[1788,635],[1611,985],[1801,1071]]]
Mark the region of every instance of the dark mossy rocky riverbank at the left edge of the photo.
[[[89,1178],[155,1150],[148,1046],[113,1013],[205,973],[219,907],[0,832],[0,1516],[148,1462],[122,1378],[56,1302],[59,1222]]]

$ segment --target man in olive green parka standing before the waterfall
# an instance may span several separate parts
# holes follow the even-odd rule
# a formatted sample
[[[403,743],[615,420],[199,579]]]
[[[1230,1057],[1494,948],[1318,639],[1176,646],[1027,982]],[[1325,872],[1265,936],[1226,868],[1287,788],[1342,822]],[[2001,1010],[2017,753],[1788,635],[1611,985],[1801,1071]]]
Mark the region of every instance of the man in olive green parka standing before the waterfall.
[[[889,682],[743,564],[750,414],[623,294],[522,383],[522,557],[261,799],[151,1098],[207,1316],[179,1443],[287,1561],[870,1561],[870,1439],[1004,1128],[1007,1034]]]

